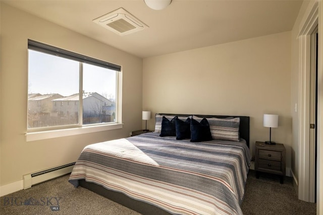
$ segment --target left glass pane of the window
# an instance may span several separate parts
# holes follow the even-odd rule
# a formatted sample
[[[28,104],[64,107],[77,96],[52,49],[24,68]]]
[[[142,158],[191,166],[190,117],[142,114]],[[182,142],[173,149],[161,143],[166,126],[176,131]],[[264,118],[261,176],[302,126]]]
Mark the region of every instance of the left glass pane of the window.
[[[79,123],[79,62],[28,50],[28,128]]]

